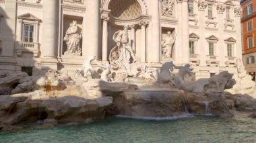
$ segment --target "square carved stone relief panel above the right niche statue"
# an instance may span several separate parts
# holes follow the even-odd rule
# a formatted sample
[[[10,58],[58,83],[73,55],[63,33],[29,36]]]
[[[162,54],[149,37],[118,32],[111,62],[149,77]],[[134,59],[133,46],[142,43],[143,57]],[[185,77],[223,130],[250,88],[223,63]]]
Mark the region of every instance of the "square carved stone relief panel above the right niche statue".
[[[163,0],[162,1],[162,16],[172,16],[174,1],[173,0]]]

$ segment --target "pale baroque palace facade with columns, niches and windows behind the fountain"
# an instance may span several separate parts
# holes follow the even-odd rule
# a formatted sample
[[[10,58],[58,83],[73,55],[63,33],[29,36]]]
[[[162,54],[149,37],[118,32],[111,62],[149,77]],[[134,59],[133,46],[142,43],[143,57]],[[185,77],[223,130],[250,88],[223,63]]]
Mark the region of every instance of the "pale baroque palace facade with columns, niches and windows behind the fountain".
[[[190,63],[197,78],[241,60],[239,0],[0,0],[0,70],[74,75],[84,58],[108,60],[128,28],[136,60]]]

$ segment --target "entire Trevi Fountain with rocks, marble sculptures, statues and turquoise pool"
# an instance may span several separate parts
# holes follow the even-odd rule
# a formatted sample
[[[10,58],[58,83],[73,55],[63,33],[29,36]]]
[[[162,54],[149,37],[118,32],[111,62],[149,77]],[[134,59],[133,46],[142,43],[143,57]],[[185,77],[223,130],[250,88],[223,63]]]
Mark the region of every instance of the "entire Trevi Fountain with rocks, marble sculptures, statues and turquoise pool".
[[[81,54],[75,24],[65,54]],[[256,142],[255,83],[241,60],[235,75],[195,80],[189,64],[139,62],[127,26],[113,40],[108,61],[86,58],[73,77],[1,73],[0,142]]]

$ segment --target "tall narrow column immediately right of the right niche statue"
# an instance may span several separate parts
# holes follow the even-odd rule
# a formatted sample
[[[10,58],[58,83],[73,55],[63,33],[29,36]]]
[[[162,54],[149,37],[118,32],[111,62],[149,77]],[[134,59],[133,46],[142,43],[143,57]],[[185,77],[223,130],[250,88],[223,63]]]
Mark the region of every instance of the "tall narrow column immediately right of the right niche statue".
[[[188,1],[181,1],[181,53],[179,55],[179,63],[187,64],[189,63],[189,9]]]

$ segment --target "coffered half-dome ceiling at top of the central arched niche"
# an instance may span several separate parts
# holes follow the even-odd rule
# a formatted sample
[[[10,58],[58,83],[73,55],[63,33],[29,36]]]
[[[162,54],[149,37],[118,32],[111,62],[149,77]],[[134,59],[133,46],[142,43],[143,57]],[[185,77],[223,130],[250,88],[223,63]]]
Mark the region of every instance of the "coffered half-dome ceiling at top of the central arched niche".
[[[111,9],[110,15],[117,19],[135,19],[142,15],[137,0],[111,0],[108,9]]]

